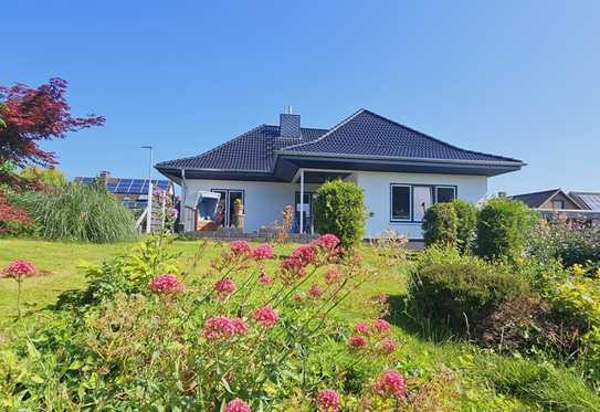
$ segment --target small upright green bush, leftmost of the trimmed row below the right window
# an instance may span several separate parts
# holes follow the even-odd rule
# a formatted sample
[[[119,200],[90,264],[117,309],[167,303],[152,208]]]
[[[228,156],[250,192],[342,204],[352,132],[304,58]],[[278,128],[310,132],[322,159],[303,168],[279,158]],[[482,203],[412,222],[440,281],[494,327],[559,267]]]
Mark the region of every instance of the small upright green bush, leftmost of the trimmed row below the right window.
[[[452,203],[435,203],[423,218],[423,239],[425,246],[441,244],[456,246],[459,218]]]

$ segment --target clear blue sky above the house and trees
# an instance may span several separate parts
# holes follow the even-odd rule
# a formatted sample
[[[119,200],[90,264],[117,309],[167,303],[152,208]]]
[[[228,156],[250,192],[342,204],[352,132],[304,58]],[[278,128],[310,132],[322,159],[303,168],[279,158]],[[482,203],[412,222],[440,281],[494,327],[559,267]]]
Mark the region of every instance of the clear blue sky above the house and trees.
[[[360,107],[529,166],[490,192],[600,191],[598,1],[12,1],[0,83],[70,82],[103,128],[45,145],[69,177],[144,177],[293,105]]]

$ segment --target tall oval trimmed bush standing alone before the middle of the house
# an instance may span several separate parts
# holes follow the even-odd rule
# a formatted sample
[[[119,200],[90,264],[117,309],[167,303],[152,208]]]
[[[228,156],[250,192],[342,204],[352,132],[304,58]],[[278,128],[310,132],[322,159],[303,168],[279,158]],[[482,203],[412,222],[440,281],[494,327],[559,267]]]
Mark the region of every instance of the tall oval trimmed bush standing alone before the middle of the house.
[[[333,180],[317,190],[315,229],[339,237],[343,247],[356,245],[365,233],[365,196],[352,182]]]

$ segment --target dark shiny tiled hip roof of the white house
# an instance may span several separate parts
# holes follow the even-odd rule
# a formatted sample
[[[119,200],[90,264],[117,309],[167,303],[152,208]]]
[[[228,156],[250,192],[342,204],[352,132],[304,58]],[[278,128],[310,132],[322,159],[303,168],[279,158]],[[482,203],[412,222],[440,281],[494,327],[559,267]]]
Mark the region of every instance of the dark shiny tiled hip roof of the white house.
[[[427,169],[425,162],[433,166]],[[494,176],[524,165],[461,149],[360,109],[329,130],[301,128],[299,138],[282,137],[280,126],[262,125],[202,155],[162,161],[156,168],[176,180],[185,175],[290,181],[301,167]]]

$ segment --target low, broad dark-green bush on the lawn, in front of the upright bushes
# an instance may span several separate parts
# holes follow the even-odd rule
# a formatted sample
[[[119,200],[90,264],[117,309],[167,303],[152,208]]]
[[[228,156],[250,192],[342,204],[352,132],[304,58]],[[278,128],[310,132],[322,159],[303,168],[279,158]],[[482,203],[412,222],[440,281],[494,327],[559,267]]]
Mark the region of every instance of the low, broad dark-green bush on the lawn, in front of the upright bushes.
[[[419,256],[409,284],[419,314],[457,332],[528,290],[527,281],[504,263],[492,264],[438,246]]]

